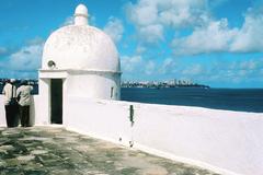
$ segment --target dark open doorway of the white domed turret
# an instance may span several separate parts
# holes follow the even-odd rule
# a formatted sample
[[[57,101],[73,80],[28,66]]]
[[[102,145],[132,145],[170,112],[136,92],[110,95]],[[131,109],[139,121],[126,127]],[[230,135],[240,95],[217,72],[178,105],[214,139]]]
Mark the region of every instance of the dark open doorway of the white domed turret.
[[[62,124],[62,79],[50,80],[52,124]]]

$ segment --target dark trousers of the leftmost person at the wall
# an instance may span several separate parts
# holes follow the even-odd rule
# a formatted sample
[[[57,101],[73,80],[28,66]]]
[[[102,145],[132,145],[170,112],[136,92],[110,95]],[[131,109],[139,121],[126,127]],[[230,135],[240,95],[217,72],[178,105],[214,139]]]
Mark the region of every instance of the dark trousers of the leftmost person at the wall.
[[[18,105],[4,105],[5,108],[5,119],[8,127],[19,126],[19,106]]]

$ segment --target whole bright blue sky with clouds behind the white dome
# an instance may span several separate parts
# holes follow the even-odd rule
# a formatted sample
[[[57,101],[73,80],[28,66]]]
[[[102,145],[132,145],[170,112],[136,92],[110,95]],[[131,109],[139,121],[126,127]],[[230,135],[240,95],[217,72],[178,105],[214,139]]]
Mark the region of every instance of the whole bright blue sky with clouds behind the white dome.
[[[123,80],[263,88],[263,0],[0,0],[0,77],[37,78],[79,3],[115,42]]]

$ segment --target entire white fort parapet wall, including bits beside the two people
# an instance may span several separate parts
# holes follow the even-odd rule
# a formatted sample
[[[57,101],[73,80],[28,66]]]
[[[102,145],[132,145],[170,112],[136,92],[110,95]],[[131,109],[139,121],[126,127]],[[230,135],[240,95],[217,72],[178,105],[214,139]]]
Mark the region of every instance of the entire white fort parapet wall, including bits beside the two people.
[[[31,113],[36,125],[46,125],[47,109],[38,98],[34,96]],[[222,174],[262,175],[263,114],[73,96],[64,103],[68,129],[125,145],[133,141],[134,148]],[[133,127],[129,105],[135,108]],[[0,115],[5,125],[3,105]]]

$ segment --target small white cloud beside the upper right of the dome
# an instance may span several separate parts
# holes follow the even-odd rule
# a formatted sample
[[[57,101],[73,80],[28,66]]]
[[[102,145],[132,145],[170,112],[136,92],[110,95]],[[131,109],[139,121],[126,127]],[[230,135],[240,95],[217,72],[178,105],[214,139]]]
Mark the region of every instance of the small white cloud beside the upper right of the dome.
[[[110,18],[103,31],[108,34],[115,43],[118,43],[123,37],[124,26],[121,20]]]

